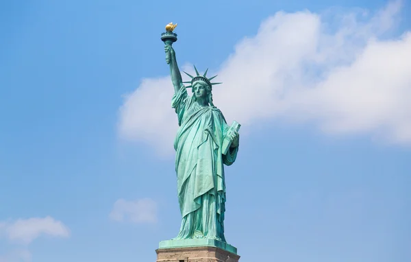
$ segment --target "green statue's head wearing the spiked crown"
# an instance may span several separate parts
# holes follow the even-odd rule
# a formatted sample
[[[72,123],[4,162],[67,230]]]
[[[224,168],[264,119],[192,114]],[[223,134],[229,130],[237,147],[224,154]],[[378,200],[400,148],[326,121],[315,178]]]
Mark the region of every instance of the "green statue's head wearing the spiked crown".
[[[208,97],[208,103],[213,106],[212,104],[212,86],[214,84],[221,84],[221,83],[212,83],[210,80],[216,77],[214,75],[212,78],[206,78],[207,71],[204,73],[204,75],[200,75],[199,71],[197,71],[197,68],[194,66],[195,73],[197,74],[196,76],[192,76],[186,72],[186,75],[188,75],[191,78],[191,81],[189,82],[184,82],[184,83],[190,83],[190,86],[186,86],[187,88],[191,88],[192,93],[194,93],[193,98],[197,100],[197,98],[206,98]]]

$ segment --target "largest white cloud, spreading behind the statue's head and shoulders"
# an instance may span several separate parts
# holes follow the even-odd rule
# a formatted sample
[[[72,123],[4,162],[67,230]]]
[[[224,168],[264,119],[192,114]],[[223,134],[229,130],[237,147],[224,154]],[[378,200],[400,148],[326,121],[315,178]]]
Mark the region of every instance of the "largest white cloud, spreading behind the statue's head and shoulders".
[[[375,14],[277,12],[222,64],[214,104],[245,128],[282,119],[411,144],[411,34],[382,39],[400,8],[395,1]],[[169,76],[143,80],[121,107],[121,136],[171,151],[172,95]]]

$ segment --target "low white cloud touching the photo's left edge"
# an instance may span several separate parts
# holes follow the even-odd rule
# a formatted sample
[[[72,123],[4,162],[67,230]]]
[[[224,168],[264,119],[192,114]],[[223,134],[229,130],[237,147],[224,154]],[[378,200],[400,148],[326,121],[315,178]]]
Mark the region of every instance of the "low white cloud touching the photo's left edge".
[[[70,232],[69,228],[53,217],[32,217],[0,223],[0,235],[5,235],[10,241],[28,244],[40,235],[69,237]]]

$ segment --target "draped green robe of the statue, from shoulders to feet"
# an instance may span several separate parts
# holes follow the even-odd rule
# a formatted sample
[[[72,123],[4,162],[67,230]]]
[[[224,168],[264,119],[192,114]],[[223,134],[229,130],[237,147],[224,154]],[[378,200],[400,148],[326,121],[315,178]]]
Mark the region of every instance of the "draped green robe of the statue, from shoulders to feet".
[[[182,213],[182,226],[175,239],[207,238],[225,241],[225,165],[236,160],[238,147],[222,154],[229,130],[223,113],[200,106],[182,86],[174,94],[172,107],[179,130],[175,137],[175,171]]]

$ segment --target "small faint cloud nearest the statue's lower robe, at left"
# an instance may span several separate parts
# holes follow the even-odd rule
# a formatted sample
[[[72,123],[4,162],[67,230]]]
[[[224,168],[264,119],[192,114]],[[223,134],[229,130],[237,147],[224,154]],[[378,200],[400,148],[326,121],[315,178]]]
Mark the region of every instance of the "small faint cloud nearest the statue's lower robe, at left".
[[[136,201],[119,199],[114,203],[110,219],[117,222],[155,223],[157,204],[149,198]]]

